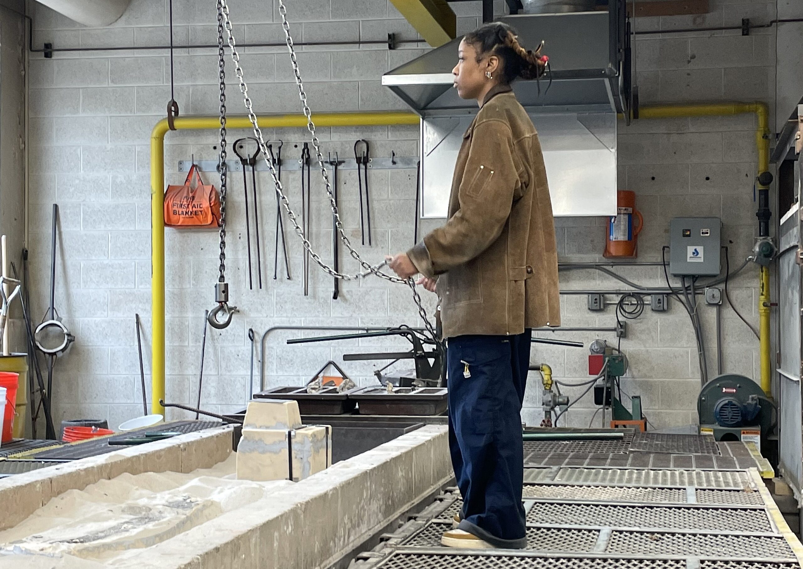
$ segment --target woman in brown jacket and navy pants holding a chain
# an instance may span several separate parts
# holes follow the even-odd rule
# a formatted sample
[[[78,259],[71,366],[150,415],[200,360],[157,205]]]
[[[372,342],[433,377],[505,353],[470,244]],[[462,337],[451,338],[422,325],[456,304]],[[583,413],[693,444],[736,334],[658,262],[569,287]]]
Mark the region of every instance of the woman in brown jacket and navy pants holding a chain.
[[[542,44],[543,45],[543,44]],[[548,58],[493,22],[467,34],[454,87],[479,112],[463,135],[446,225],[388,258],[402,278],[438,292],[447,341],[449,445],[463,511],[446,547],[526,546],[521,407],[532,328],[560,325],[557,248],[536,128],[514,79]]]

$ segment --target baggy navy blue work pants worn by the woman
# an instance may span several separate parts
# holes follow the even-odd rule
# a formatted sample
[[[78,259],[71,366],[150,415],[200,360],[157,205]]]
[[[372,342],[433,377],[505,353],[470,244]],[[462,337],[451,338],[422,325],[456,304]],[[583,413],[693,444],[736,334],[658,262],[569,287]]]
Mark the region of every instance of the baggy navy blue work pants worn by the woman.
[[[449,446],[463,494],[459,528],[495,547],[526,543],[521,406],[531,335],[456,336],[446,351]]]

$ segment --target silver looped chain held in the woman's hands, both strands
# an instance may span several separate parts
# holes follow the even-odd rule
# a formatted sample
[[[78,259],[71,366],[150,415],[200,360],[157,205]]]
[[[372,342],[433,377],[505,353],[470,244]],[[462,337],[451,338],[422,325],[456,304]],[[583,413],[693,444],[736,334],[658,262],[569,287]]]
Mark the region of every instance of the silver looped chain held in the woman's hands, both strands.
[[[240,56],[237,51],[237,42],[234,39],[234,35],[232,33],[231,21],[229,18],[229,6],[226,0],[218,0],[218,6],[222,6],[222,10],[220,10],[220,12],[222,13],[224,26],[226,29],[226,35],[228,36],[229,48],[231,50],[231,60],[234,63],[234,73],[237,75],[237,79],[240,86],[240,92],[243,94],[243,101],[247,109],[248,120],[251,121],[251,126],[253,127],[254,130],[254,136],[259,142],[259,148],[262,150],[263,160],[267,165],[268,171],[271,173],[271,178],[273,179],[276,193],[279,195],[279,199],[282,202],[284,210],[287,212],[287,217],[290,219],[290,222],[293,226],[293,230],[295,230],[296,235],[300,238],[301,242],[304,244],[304,249],[308,251],[312,260],[315,261],[316,264],[320,266],[321,269],[323,269],[326,273],[328,273],[330,276],[334,278],[340,278],[342,280],[351,281],[351,280],[357,280],[358,278],[365,278],[369,274],[375,274],[377,277],[384,278],[389,282],[397,282],[409,286],[410,290],[413,293],[414,303],[418,307],[418,315],[421,317],[424,326],[426,327],[426,330],[430,333],[432,339],[434,339],[434,341],[439,344],[440,341],[438,340],[438,335],[434,329],[434,326],[432,325],[432,323],[430,323],[430,319],[426,315],[426,309],[423,307],[421,301],[421,295],[419,295],[418,291],[416,290],[414,279],[398,278],[382,272],[380,269],[383,266],[386,266],[387,262],[381,262],[378,265],[371,265],[369,262],[365,261],[365,259],[361,258],[359,252],[354,249],[354,247],[351,244],[351,241],[349,240],[349,237],[345,234],[343,222],[340,220],[340,213],[337,209],[335,196],[332,193],[332,185],[329,182],[328,172],[324,163],[324,154],[320,150],[320,140],[318,140],[318,136],[316,134],[315,124],[312,122],[312,111],[310,110],[309,105],[307,103],[307,93],[304,91],[304,83],[301,80],[298,59],[296,58],[296,49],[295,47],[293,47],[293,39],[290,35],[290,24],[287,22],[287,8],[286,6],[284,6],[283,0],[279,0],[279,14],[282,17],[282,28],[284,30],[285,43],[287,44],[287,50],[290,53],[290,61],[293,67],[293,73],[296,76],[296,85],[299,89],[299,98],[301,101],[301,107],[304,112],[304,116],[307,117],[307,129],[311,135],[312,146],[313,148],[315,148],[316,160],[318,161],[318,166],[320,167],[320,175],[324,180],[326,194],[329,198],[329,205],[332,209],[332,215],[335,219],[335,226],[337,233],[340,235],[340,241],[343,242],[346,249],[349,250],[349,254],[352,256],[352,258],[354,258],[358,263],[360,263],[360,266],[362,266],[363,269],[365,269],[361,273],[344,274],[332,269],[332,267],[328,266],[320,258],[320,255],[317,254],[315,250],[312,249],[312,244],[305,237],[304,230],[299,225],[296,213],[290,207],[290,201],[287,199],[287,195],[284,193],[282,182],[279,181],[279,177],[276,174],[275,167],[271,163],[271,161],[267,159],[268,156],[267,145],[265,144],[265,140],[263,138],[262,129],[259,128],[259,123],[257,122],[257,117],[253,109],[253,104],[251,103],[251,97],[248,95],[248,85],[245,82],[245,79],[243,79],[243,68],[240,67]],[[219,17],[220,14],[218,14],[218,18]],[[218,24],[218,30],[219,30],[219,24]],[[219,45],[219,39],[218,39],[218,45]]]

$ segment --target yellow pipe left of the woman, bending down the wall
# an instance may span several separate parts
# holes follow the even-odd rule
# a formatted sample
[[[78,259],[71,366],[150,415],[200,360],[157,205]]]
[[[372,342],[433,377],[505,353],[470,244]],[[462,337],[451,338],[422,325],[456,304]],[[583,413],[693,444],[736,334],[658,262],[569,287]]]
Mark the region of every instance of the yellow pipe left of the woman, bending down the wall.
[[[319,127],[418,124],[412,112],[322,112],[315,115]],[[259,117],[262,128],[305,127],[304,115],[266,115]],[[181,116],[177,130],[220,128],[218,116]],[[227,128],[251,128],[247,116],[230,116]],[[151,356],[151,413],[165,413],[159,404],[165,398],[165,134],[167,119],[160,120],[151,132],[151,320],[153,347]],[[210,301],[212,300],[210,287]],[[212,302],[210,302],[210,305]]]

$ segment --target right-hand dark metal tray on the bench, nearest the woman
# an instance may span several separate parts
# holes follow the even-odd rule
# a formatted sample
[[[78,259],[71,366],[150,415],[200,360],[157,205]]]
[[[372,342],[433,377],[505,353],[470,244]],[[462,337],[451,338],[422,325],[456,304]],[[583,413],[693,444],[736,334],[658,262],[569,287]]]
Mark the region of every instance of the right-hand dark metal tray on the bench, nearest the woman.
[[[368,387],[349,393],[365,415],[441,415],[446,412],[446,388]]]

